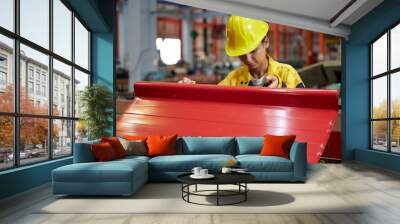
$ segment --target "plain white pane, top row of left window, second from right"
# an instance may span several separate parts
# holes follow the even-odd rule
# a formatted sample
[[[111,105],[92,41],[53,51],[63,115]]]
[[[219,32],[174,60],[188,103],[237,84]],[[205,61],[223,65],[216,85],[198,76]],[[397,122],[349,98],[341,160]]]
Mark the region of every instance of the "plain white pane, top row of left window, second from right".
[[[53,51],[71,60],[72,12],[60,0],[53,4]]]

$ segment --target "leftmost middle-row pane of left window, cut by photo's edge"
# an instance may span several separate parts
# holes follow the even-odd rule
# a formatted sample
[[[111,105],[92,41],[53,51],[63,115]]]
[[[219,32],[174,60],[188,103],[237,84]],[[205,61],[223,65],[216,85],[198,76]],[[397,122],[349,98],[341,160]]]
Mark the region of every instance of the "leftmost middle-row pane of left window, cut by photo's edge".
[[[13,40],[0,35],[0,111],[14,111]]]

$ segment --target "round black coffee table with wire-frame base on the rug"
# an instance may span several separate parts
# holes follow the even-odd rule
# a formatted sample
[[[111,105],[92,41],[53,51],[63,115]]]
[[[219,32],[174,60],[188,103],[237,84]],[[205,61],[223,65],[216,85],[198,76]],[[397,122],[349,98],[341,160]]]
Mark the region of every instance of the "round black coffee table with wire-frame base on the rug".
[[[241,202],[245,202],[247,200],[247,192],[249,188],[247,187],[247,183],[255,180],[255,177],[248,173],[216,173],[213,174],[215,177],[212,179],[193,179],[189,174],[182,174],[177,177],[178,181],[182,183],[182,199],[188,203],[198,204],[198,205],[234,205],[239,204]],[[197,190],[197,185],[205,184],[205,185],[216,185],[215,190]],[[195,186],[194,191],[190,191],[190,186]],[[238,186],[237,190],[224,190],[220,189],[220,185],[236,185]],[[206,194],[209,192],[215,192],[215,194]],[[203,196],[203,197],[216,197],[217,204],[202,204],[190,201],[190,196]],[[232,197],[232,196],[241,196],[239,200],[231,202],[231,203],[221,203],[221,197]]]

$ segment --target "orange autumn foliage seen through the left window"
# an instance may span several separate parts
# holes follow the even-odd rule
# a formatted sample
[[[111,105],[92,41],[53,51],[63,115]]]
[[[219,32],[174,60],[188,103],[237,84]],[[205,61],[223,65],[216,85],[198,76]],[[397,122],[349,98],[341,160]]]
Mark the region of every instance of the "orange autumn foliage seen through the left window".
[[[14,90],[9,85],[5,93],[0,93],[0,111],[13,112],[14,107]],[[46,105],[46,106],[43,106]],[[48,103],[34,105],[29,99],[25,88],[20,88],[20,110],[22,114],[48,114]],[[58,114],[58,111],[55,111]],[[0,116],[0,147],[13,147],[13,117]],[[26,145],[46,144],[49,131],[47,118],[20,118],[20,148],[24,149]],[[53,138],[59,135],[59,127],[53,125]]]

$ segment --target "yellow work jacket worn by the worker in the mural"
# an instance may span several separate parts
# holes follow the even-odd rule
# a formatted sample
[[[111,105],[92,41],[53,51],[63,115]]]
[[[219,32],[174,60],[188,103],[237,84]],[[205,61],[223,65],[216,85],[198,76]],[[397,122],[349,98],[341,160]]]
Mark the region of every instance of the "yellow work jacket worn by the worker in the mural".
[[[278,88],[304,88],[303,81],[292,66],[279,63],[272,57],[268,57],[268,69],[264,75],[275,75],[278,78]],[[230,72],[218,85],[248,86],[252,79],[249,68],[243,65]]]

